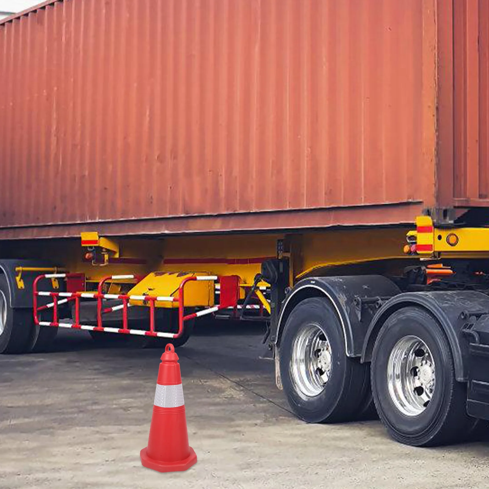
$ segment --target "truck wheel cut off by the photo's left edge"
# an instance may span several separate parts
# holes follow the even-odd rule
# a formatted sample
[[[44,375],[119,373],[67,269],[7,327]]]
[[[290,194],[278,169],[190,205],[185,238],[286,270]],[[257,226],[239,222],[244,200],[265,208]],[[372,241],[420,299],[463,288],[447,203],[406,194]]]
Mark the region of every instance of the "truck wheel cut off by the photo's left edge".
[[[28,351],[32,328],[30,309],[12,309],[5,275],[0,275],[0,353]]]

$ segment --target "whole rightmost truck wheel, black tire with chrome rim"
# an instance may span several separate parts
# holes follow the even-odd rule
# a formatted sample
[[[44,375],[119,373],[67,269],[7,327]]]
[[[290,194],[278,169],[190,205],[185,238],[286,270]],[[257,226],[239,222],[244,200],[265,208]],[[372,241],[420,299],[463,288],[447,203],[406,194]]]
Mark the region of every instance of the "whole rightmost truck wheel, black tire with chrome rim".
[[[371,379],[378,415],[400,443],[455,443],[474,424],[448,340],[427,311],[406,307],[387,319],[375,343]]]

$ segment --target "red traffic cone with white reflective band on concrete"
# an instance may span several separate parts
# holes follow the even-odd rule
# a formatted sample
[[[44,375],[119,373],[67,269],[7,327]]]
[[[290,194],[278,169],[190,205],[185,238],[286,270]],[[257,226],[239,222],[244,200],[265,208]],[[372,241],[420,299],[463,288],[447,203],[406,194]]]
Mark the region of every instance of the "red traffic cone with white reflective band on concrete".
[[[196,462],[197,455],[188,445],[178,355],[169,343],[159,364],[150,436],[148,446],[141,450],[141,463],[159,472],[176,472]]]

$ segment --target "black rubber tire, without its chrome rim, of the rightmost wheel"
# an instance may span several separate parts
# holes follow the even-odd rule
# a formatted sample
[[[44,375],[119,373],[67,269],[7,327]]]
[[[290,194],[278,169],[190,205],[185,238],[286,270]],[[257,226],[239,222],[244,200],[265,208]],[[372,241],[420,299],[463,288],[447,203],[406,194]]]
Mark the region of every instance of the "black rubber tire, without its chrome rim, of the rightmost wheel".
[[[387,385],[387,364],[394,345],[404,336],[418,336],[429,348],[435,364],[433,397],[417,416],[396,407]],[[474,426],[467,415],[467,386],[457,382],[450,345],[438,321],[419,307],[405,307],[382,326],[372,355],[372,394],[380,420],[394,440],[412,446],[447,445],[463,441]]]

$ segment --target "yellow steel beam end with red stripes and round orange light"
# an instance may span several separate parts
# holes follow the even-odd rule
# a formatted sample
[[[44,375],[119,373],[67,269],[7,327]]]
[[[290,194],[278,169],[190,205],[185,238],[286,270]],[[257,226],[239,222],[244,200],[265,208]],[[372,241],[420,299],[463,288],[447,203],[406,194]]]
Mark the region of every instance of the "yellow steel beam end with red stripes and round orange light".
[[[406,254],[425,258],[481,258],[481,255],[489,255],[489,228],[438,228],[429,216],[416,218],[416,231],[409,231],[406,240]]]

